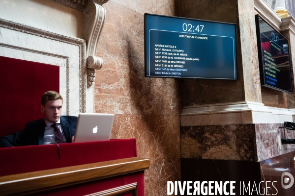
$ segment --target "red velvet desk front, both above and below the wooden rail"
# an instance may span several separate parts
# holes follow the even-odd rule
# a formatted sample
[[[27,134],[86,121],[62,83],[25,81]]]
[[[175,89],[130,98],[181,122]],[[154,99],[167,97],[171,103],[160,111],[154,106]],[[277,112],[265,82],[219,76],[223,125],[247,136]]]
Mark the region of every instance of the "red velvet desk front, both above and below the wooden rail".
[[[132,159],[132,157],[137,157],[135,139],[59,144],[59,147],[57,145],[42,145],[0,148],[0,192],[5,188],[1,182],[3,179],[10,179],[10,175],[16,176],[19,173],[62,169],[126,158]],[[138,196],[144,196],[144,170],[91,180],[75,186],[52,188],[38,192],[37,195],[88,195],[132,183],[137,183]],[[128,194],[131,196],[131,193]]]

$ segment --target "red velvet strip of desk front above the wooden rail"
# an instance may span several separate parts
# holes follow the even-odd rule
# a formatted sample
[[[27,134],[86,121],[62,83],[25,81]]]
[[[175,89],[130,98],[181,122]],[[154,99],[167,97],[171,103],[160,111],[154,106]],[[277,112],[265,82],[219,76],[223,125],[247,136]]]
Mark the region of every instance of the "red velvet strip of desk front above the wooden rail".
[[[59,144],[59,148],[56,145],[2,147],[0,176],[129,157],[137,157],[135,139],[66,143]]]

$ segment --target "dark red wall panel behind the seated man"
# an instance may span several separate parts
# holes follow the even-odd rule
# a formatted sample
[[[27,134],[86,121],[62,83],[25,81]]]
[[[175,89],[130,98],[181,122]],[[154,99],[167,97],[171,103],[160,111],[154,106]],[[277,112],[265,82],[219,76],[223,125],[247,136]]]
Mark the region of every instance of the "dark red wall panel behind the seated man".
[[[46,91],[59,92],[59,66],[0,56],[0,73],[1,137],[44,118],[41,97]]]

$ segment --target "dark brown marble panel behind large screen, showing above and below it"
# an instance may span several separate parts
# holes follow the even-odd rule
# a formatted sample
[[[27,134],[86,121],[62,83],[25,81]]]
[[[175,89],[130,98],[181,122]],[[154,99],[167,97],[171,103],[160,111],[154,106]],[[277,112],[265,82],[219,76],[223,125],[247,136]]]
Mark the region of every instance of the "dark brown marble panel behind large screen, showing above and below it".
[[[237,23],[236,0],[179,0],[179,16],[227,23]],[[237,57],[237,60],[240,58]],[[238,80],[183,79],[183,105],[236,102],[244,99],[242,67],[237,65]],[[229,96],[230,95],[230,96]]]

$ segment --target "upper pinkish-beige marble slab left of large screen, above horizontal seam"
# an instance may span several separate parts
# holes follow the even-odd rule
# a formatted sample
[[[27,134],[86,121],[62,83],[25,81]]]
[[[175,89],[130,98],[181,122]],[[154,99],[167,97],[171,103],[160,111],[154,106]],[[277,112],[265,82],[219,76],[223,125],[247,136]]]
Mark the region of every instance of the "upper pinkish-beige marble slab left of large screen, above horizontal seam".
[[[112,1],[104,6],[108,17],[98,43],[104,66],[96,73],[96,112],[180,114],[177,80],[144,77],[143,15]]]

